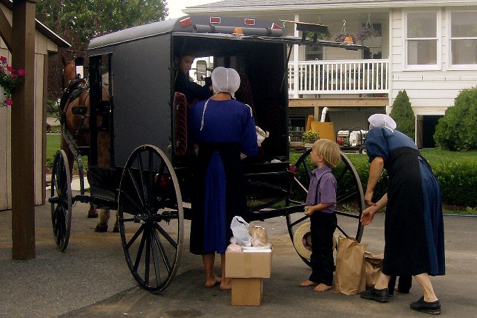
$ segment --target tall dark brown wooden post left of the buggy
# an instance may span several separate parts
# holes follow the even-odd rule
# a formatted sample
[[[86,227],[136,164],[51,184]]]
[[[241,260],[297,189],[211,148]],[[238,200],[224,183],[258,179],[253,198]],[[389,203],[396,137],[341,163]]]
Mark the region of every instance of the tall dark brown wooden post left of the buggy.
[[[26,72],[13,92],[12,106],[12,258],[35,258],[34,114],[35,2],[13,0],[12,66]]]

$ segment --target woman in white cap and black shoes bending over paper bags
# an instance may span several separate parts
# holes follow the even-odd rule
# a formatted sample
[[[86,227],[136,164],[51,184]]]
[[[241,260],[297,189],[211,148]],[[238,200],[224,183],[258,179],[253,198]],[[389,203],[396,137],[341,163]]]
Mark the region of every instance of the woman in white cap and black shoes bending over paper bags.
[[[361,222],[370,224],[375,212],[386,207],[385,258],[378,282],[361,296],[387,302],[391,276],[414,276],[424,295],[411,303],[411,309],[438,314],[441,306],[429,275],[445,274],[439,183],[414,141],[396,131],[391,117],[375,114],[369,123],[366,151],[371,165],[364,198],[370,207],[363,211]],[[373,191],[383,169],[387,169],[389,189],[373,203]]]

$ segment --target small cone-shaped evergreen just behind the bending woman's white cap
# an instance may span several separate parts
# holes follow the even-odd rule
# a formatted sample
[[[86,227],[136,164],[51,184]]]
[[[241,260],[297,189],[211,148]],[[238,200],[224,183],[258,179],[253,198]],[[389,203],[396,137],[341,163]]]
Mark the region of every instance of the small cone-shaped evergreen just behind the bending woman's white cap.
[[[396,122],[398,131],[414,140],[416,116],[412,111],[411,102],[405,90],[398,92],[389,116]]]

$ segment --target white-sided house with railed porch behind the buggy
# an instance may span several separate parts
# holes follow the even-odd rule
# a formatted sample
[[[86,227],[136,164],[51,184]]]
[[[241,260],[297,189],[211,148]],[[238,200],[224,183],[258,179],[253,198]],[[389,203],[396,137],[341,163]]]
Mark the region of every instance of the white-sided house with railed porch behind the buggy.
[[[417,115],[416,142],[433,147],[439,117],[460,90],[477,85],[477,1],[474,0],[225,0],[191,6],[188,14],[233,15],[329,26],[356,34],[371,24],[378,36],[358,41],[367,52],[298,47],[289,62],[291,125],[328,106],[334,127],[367,126],[390,112],[406,90]],[[289,35],[295,24],[282,22]],[[355,40],[356,41],[356,40]]]

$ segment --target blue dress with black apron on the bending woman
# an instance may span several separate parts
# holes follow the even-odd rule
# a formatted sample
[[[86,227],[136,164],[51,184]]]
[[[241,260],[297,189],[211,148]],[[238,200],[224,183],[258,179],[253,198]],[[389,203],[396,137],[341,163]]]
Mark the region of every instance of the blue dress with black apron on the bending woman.
[[[399,131],[366,135],[369,162],[382,157],[389,176],[382,273],[445,274],[444,220],[439,183],[416,144]]]

